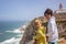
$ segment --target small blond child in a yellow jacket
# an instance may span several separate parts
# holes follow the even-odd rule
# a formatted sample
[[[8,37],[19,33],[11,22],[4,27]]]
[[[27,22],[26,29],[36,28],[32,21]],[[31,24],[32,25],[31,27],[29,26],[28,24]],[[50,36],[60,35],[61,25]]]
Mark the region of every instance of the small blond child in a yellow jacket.
[[[40,20],[35,20],[35,25],[37,28],[36,35],[33,37],[36,40],[36,44],[46,44],[46,29],[42,26]]]

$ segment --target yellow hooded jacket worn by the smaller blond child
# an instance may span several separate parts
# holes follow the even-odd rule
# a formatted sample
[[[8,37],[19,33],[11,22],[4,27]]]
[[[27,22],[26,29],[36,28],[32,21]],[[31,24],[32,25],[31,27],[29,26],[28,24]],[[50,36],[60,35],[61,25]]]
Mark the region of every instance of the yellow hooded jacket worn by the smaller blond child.
[[[41,26],[41,28],[37,29],[36,35],[34,36],[37,44],[46,44],[45,32],[46,32],[46,29],[44,26]]]

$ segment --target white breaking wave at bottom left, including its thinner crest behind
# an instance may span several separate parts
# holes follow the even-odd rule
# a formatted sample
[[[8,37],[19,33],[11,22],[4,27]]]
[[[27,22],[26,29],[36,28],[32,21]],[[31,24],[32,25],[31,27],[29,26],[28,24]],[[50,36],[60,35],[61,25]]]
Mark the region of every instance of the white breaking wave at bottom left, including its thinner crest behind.
[[[19,34],[15,37],[11,37],[3,42],[0,42],[0,44],[20,44],[22,36],[23,36],[22,34]]]

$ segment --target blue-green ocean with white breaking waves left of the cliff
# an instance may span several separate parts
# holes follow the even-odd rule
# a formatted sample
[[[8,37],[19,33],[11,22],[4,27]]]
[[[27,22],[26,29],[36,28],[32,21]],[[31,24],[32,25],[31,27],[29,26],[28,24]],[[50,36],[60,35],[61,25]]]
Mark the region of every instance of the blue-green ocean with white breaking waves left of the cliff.
[[[19,44],[23,33],[20,28],[26,21],[0,21],[0,44]]]

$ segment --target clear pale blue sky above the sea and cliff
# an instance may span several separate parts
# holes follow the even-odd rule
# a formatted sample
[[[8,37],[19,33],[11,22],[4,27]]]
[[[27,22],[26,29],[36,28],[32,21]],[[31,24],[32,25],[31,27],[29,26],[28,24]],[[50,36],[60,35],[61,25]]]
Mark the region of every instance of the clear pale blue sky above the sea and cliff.
[[[59,3],[66,9],[65,0],[0,0],[0,21],[32,20],[47,8],[57,10]]]

